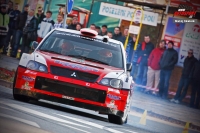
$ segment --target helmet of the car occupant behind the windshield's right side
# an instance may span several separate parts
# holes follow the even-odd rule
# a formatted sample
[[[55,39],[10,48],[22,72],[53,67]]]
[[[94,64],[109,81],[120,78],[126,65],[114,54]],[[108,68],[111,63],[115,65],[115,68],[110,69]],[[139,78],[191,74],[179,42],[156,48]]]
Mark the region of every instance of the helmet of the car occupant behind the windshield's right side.
[[[99,52],[99,60],[105,63],[110,63],[112,61],[113,54],[107,49],[101,49]]]

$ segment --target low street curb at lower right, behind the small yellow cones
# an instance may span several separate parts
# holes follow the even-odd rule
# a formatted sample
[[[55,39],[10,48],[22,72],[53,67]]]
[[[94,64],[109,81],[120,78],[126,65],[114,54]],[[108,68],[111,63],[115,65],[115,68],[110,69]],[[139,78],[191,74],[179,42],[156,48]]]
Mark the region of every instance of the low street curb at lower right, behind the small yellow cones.
[[[135,111],[135,112],[137,112],[137,113],[143,114],[145,110],[132,106],[132,107],[131,107],[131,111]],[[185,124],[187,123],[187,122],[185,122],[185,121],[181,121],[181,120],[174,119],[174,118],[172,118],[172,117],[160,115],[160,114],[154,113],[154,112],[152,112],[152,111],[147,111],[147,115],[150,116],[150,117],[154,117],[154,118],[163,120],[163,121],[167,121],[167,122],[170,122],[170,123],[178,124],[178,125],[181,125],[181,126],[183,126],[183,127],[184,127]],[[197,131],[200,131],[200,126],[194,125],[193,123],[190,123],[189,128],[190,128],[190,129],[197,130]]]

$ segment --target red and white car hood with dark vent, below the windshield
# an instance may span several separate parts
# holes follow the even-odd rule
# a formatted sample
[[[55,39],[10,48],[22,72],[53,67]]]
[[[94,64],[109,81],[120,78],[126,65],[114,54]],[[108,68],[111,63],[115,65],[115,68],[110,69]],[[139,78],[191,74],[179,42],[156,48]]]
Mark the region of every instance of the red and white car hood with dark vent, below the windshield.
[[[38,56],[40,56],[40,58],[38,58]],[[47,66],[65,67],[72,70],[93,73],[107,78],[118,78],[122,73],[124,73],[124,70],[121,68],[43,51],[35,52],[35,60],[37,61],[37,59],[43,61],[46,60]]]

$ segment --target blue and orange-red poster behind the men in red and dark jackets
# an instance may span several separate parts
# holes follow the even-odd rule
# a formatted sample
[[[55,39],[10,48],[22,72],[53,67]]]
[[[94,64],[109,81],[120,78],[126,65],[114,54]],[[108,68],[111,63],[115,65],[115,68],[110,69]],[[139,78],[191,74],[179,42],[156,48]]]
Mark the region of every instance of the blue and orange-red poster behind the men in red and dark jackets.
[[[185,23],[174,23],[174,19],[176,18],[168,16],[164,39],[167,43],[173,41],[174,49],[179,53]]]

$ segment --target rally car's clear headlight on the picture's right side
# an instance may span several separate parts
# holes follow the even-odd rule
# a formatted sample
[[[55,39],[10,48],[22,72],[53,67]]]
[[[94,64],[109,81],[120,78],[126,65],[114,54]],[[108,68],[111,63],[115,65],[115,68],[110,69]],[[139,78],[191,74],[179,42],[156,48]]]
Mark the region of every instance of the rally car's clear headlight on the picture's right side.
[[[113,88],[122,88],[123,82],[121,79],[111,79],[111,78],[103,78],[100,81],[100,84],[105,86],[111,86]]]

